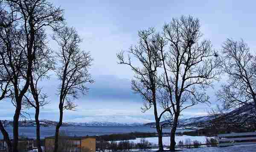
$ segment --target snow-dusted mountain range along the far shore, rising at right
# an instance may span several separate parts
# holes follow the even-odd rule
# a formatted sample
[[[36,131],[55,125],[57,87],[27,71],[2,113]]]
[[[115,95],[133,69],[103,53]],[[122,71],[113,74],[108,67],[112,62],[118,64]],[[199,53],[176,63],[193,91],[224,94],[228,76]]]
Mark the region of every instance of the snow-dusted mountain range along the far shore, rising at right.
[[[256,114],[256,110],[253,106],[243,106],[238,109],[235,109],[229,113],[226,113],[222,116],[225,119],[225,122],[241,122],[247,118],[251,117],[251,113]],[[214,120],[216,116],[214,115],[207,115],[207,116],[200,116],[200,117],[193,117],[187,119],[180,119],[178,127],[201,127],[208,125],[212,120]],[[254,118],[254,117],[253,117]],[[112,120],[112,119],[110,119]],[[250,119],[248,119],[250,121]],[[12,121],[3,121],[5,126],[12,126]],[[51,127],[56,126],[57,121],[50,121],[50,120],[40,120],[40,124],[42,127]],[[169,120],[162,121],[160,124],[169,123]],[[92,122],[64,122],[63,126],[151,126],[154,125],[154,122],[151,123],[143,123],[143,122],[120,122],[116,119],[113,119],[113,122],[110,121],[92,121]],[[23,127],[30,127],[35,126],[34,120],[29,121],[20,121],[20,126]]]

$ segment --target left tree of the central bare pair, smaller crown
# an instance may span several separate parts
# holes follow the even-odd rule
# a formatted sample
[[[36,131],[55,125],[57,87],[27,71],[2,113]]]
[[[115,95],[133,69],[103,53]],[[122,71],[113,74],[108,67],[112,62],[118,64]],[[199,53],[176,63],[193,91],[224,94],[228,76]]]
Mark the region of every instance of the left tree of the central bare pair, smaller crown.
[[[162,66],[160,59],[160,50],[165,46],[165,41],[160,37],[160,34],[156,34],[154,28],[148,30],[139,31],[140,37],[138,45],[132,45],[128,51],[128,60],[125,61],[124,52],[121,51],[117,54],[119,59],[118,64],[128,65],[134,72],[134,79],[131,80],[131,88],[134,93],[139,93],[144,102],[143,112],[154,108],[154,117],[156,121],[156,129],[158,133],[158,145],[159,150],[163,151],[162,141],[162,129],[160,127],[160,119],[166,112],[163,110],[158,114],[158,101],[157,90],[159,85],[157,82],[157,70]],[[132,62],[131,56],[137,59],[136,63]]]

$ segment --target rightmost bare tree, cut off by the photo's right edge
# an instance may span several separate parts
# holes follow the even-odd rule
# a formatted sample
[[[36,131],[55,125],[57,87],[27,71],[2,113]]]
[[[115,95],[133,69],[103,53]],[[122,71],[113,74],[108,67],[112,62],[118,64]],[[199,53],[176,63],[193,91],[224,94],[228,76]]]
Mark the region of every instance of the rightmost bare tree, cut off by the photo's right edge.
[[[218,91],[225,109],[247,106],[256,115],[256,56],[243,41],[227,39],[222,46],[222,70],[228,76]]]

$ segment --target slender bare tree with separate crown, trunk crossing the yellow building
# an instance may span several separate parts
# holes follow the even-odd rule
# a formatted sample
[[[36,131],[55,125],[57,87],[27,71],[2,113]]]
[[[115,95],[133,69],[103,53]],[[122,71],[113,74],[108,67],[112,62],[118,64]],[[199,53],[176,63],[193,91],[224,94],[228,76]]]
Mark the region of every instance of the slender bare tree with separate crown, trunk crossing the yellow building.
[[[61,85],[58,87],[59,95],[59,122],[55,130],[55,149],[58,151],[59,129],[63,121],[63,110],[74,110],[76,105],[70,98],[77,99],[79,93],[87,93],[87,83],[93,83],[89,73],[93,59],[89,52],[81,51],[79,44],[82,42],[74,28],[64,27],[52,36],[58,45],[57,53],[59,63],[56,70]]]

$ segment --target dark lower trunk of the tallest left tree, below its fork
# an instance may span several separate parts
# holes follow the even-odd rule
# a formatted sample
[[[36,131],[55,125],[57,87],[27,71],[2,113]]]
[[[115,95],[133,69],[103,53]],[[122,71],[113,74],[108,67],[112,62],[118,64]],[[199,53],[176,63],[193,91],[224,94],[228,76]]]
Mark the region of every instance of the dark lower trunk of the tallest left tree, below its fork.
[[[16,100],[16,110],[15,115],[13,117],[13,145],[12,151],[18,151],[18,141],[19,141],[19,118],[20,118],[20,110],[21,110],[21,100]]]

